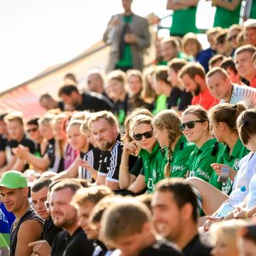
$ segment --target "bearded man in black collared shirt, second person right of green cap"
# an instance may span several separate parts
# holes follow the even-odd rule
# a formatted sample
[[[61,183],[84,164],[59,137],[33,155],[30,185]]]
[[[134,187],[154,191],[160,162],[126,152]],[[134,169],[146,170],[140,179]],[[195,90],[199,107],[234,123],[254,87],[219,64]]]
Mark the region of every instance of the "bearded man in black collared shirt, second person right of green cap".
[[[51,247],[51,256],[92,255],[94,246],[79,228],[77,210],[71,205],[75,192],[81,185],[73,180],[55,183],[49,194],[50,215],[56,227],[63,229]]]

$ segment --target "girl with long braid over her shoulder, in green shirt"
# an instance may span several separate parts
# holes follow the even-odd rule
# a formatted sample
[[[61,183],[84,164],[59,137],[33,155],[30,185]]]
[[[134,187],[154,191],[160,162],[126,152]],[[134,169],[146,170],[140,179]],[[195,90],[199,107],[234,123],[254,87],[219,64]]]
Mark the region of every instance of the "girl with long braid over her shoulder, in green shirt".
[[[162,110],[153,120],[154,136],[165,148],[165,160],[163,170],[165,177],[185,177],[186,163],[190,153],[195,149],[194,143],[188,143],[179,129],[181,119],[172,109]]]

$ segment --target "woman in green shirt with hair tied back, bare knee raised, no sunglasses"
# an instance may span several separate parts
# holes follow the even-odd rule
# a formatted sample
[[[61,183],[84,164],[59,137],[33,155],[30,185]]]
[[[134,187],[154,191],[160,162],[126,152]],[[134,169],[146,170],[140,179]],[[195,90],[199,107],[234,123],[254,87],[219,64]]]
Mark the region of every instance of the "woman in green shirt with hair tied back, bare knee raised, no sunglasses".
[[[201,195],[202,208],[207,214],[212,214],[217,207],[230,195],[236,172],[239,169],[240,160],[249,153],[249,150],[241,143],[236,129],[236,119],[246,107],[243,104],[232,105],[229,103],[219,104],[209,112],[212,133],[218,142],[224,143],[218,154],[218,160],[212,164],[215,172],[209,183],[205,183],[195,177],[189,178]],[[228,179],[226,182],[218,182],[219,175],[223,175],[222,168],[228,168]],[[221,192],[218,191],[221,190]],[[216,196],[218,195],[218,196]],[[214,196],[215,200],[212,201]]]

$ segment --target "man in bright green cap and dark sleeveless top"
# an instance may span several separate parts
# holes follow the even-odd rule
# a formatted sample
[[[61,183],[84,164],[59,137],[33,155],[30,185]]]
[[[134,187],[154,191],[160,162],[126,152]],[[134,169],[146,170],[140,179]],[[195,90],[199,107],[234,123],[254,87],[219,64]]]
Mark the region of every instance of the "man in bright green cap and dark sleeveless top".
[[[15,214],[11,228],[10,256],[30,256],[28,244],[40,239],[43,220],[30,206],[26,176],[17,171],[5,172],[0,180],[0,193],[7,211]]]

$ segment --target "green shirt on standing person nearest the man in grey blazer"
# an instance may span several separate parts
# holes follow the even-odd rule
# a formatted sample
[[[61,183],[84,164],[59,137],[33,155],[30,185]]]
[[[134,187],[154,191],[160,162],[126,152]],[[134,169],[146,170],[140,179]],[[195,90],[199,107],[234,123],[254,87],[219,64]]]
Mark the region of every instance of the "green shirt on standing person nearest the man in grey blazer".
[[[195,17],[196,7],[173,11],[172,26],[170,28],[171,36],[183,36],[188,32],[197,33],[198,29],[195,26]]]

